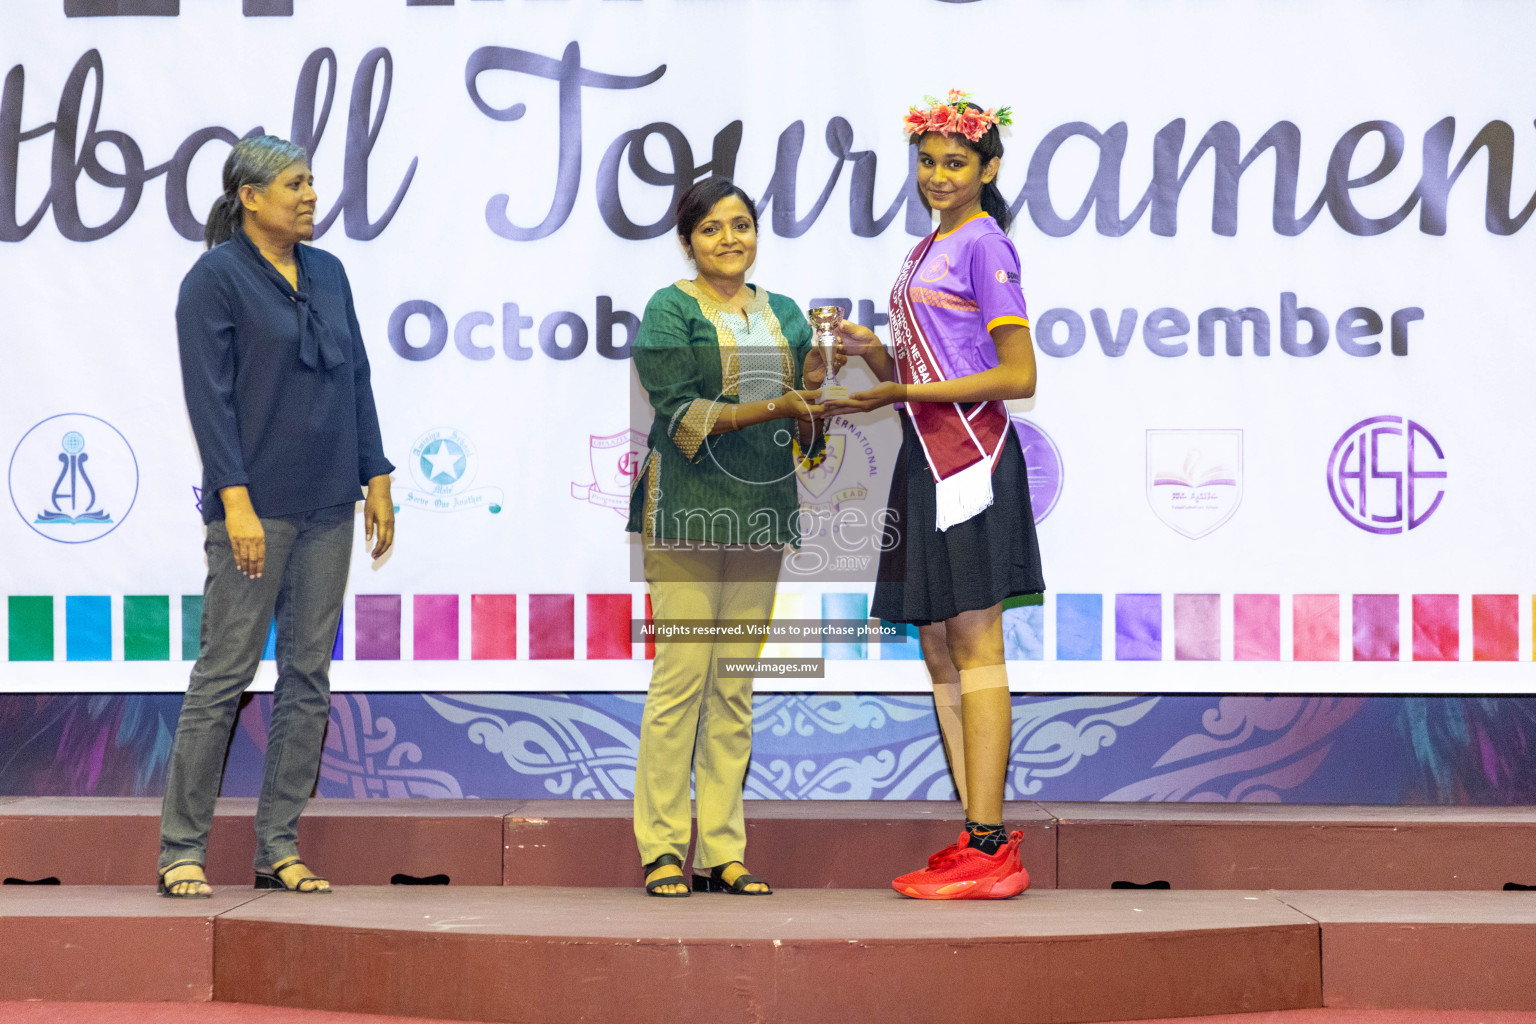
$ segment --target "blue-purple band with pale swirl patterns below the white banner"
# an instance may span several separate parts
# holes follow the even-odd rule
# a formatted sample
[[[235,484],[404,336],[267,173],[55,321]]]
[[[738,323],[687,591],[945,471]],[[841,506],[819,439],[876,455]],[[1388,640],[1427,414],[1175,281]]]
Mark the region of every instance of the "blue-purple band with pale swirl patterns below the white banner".
[[[0,794],[158,797],[180,697],[0,697]],[[323,797],[628,800],[641,694],[335,694]],[[1018,697],[1011,798],[1530,803],[1528,697]],[[260,791],[253,695],[223,794]],[[765,694],[746,792],[952,800],[919,695]],[[488,757],[487,757],[488,755]]]

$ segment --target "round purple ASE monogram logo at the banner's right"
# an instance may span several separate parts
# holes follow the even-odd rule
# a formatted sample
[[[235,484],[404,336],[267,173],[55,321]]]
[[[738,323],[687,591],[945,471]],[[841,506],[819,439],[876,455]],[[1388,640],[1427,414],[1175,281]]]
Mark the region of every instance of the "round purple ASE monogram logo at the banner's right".
[[[1367,533],[1404,533],[1424,525],[1445,497],[1445,453],[1405,416],[1362,419],[1329,454],[1329,496]]]

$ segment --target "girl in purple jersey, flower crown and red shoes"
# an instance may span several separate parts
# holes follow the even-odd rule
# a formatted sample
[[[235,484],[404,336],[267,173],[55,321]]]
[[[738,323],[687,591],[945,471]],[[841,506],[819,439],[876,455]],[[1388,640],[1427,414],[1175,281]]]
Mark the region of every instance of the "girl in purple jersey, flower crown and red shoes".
[[[892,887],[922,900],[1008,898],[1029,886],[1020,832],[1003,829],[1012,699],[1003,600],[1044,591],[1028,471],[1006,399],[1035,393],[1035,356],[995,178],[1008,109],[963,92],[914,107],[917,184],[938,230],[891,292],[891,342],[843,322],[848,355],[880,379],[828,411],[903,408],[891,482],[899,543],[882,554],[872,614],[917,625],[966,827]]]

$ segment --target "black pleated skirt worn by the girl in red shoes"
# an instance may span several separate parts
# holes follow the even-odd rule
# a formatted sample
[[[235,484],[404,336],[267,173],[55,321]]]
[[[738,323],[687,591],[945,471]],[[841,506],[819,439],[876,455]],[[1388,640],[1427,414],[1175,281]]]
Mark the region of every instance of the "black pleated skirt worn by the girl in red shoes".
[[[1018,434],[1009,428],[992,470],[992,505],[940,533],[934,525],[934,474],[911,418],[900,418],[902,454],[891,477],[891,524],[899,540],[880,554],[871,614],[928,625],[1008,597],[1044,593]]]

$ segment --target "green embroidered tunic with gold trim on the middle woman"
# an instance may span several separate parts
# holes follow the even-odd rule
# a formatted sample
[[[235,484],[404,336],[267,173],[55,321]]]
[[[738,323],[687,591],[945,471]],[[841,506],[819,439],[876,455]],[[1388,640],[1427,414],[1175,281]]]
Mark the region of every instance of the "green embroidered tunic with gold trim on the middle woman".
[[[753,287],[743,318],[693,281],[651,296],[634,368],[656,411],[630,494],[630,533],[799,547],[797,419],[710,434],[728,405],[802,388],[811,325],[793,299]],[[817,434],[814,456],[822,444]]]

